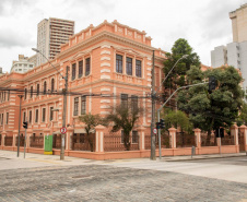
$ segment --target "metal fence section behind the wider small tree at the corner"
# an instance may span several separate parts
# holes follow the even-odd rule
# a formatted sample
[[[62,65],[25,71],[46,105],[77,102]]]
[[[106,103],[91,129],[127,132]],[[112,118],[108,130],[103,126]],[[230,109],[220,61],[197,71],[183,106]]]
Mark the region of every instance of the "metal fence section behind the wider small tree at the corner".
[[[104,135],[104,151],[117,152],[126,151],[124,140],[120,133],[109,133]],[[139,135],[130,135],[130,151],[139,150]]]

